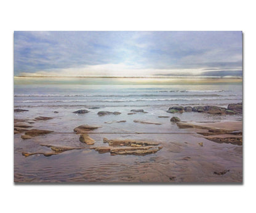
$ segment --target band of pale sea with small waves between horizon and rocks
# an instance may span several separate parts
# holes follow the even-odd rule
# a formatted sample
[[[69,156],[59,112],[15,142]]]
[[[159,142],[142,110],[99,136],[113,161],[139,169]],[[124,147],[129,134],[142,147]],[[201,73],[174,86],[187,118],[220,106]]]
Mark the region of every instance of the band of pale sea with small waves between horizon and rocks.
[[[144,79],[130,82],[126,79],[124,82],[120,79],[82,80],[17,80],[14,82],[14,107],[227,106],[242,101],[241,82],[219,83],[210,79],[206,83],[193,80],[181,84],[179,79],[177,82],[150,79],[148,83]]]

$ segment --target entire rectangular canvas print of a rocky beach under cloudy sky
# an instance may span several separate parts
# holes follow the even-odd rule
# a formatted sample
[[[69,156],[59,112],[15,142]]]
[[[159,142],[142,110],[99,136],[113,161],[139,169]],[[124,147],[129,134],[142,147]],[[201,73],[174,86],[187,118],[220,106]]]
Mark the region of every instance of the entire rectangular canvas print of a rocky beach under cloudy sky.
[[[14,182],[241,183],[241,31],[15,31]]]

